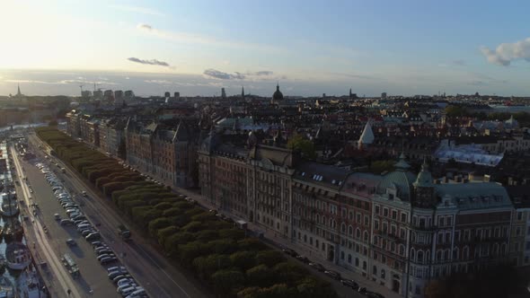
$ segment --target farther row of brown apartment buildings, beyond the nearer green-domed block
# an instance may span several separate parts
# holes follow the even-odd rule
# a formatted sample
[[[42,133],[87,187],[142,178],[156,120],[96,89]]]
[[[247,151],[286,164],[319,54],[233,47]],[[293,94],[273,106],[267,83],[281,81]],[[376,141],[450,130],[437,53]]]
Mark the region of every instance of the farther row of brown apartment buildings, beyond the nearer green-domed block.
[[[93,117],[72,111],[66,132],[122,159],[155,180],[180,188],[198,185],[197,137],[181,121],[164,126],[126,117]]]

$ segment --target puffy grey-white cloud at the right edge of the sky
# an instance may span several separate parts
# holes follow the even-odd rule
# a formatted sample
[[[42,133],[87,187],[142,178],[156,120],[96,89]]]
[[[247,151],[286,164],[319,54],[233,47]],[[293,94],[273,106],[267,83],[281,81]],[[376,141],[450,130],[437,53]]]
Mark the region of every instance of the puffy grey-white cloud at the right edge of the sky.
[[[498,66],[509,66],[517,59],[525,59],[530,62],[530,38],[513,43],[501,43],[497,48],[490,49],[481,47],[481,53],[491,64]]]

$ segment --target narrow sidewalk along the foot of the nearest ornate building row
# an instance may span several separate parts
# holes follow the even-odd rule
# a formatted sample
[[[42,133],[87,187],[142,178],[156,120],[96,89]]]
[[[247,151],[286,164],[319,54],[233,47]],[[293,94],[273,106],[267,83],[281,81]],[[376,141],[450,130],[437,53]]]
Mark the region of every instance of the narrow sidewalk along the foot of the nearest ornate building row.
[[[172,187],[172,189],[184,196],[193,198],[201,206],[205,206],[208,209],[217,209],[217,206],[212,205],[210,202],[208,202],[206,198],[202,197],[199,193],[196,193],[194,191],[190,191],[189,189],[184,189],[184,188]],[[230,217],[232,217],[234,220],[242,219],[232,214],[230,214]],[[265,230],[263,227],[258,226],[254,223],[248,223],[248,227],[252,231],[264,232],[263,236],[267,239],[267,241],[272,242],[274,245],[278,247],[287,247],[287,248],[296,250],[298,253],[302,254],[308,259],[311,259],[317,263],[321,263],[323,267],[339,272],[342,277],[355,280],[359,286],[366,287],[368,291],[373,291],[379,294],[383,294],[385,298],[402,297],[400,294],[397,294],[391,291],[384,285],[379,285],[371,281],[370,279],[368,279],[367,276],[362,276],[356,272],[350,271],[349,269],[345,267],[340,267],[334,263],[331,263],[327,259],[322,258],[322,255],[320,253],[315,253],[314,250],[309,250],[307,247],[303,245],[300,245],[296,242],[292,242],[289,239],[284,238],[282,236],[277,236],[274,231],[270,231],[269,229]]]

